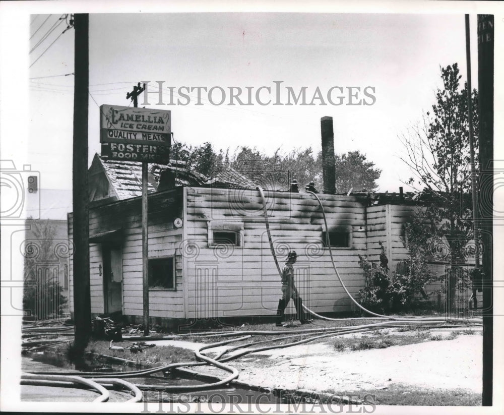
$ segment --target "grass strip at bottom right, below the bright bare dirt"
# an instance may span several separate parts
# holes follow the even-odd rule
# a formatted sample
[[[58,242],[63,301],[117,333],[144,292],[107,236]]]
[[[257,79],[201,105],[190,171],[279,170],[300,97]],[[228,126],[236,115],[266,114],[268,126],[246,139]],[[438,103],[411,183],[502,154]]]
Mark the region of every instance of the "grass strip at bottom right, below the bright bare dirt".
[[[328,391],[329,392],[329,391]],[[375,405],[411,406],[481,406],[481,394],[466,389],[428,389],[412,385],[392,384],[386,389],[359,389],[335,395],[352,395]]]

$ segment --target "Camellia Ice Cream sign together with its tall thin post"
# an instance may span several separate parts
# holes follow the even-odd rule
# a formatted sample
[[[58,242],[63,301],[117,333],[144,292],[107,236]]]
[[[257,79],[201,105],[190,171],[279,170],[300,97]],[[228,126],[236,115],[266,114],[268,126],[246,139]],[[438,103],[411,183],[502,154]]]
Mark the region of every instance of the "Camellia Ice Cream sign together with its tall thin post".
[[[126,98],[134,107],[100,106],[102,157],[108,160],[142,162],[142,287],[144,336],[149,335],[149,243],[147,222],[148,163],[169,163],[171,111],[138,108],[144,86],[133,87]]]

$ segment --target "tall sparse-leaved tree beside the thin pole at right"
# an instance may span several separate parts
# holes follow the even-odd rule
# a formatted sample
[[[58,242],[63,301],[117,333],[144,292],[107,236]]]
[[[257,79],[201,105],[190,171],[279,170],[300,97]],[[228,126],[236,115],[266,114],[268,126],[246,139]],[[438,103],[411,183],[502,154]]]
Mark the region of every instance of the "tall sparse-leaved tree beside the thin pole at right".
[[[458,65],[441,68],[443,89],[437,89],[432,111],[423,117],[423,126],[414,127],[400,137],[414,177],[406,182],[430,194],[427,214],[431,230],[446,236],[452,259],[464,257],[471,232],[471,190],[467,83],[460,89]],[[477,92],[471,92],[475,151],[478,148]]]

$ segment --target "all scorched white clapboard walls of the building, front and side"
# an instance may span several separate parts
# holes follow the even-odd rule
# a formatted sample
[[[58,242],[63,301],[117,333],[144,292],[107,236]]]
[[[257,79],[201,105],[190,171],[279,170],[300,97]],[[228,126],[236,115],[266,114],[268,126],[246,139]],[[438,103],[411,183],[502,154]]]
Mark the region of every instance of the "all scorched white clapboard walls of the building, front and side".
[[[265,191],[265,196],[280,267],[289,250],[298,253],[295,280],[304,303],[320,313],[354,310],[335,275],[329,250],[323,247],[325,227],[317,200],[305,193]],[[364,199],[354,196],[319,197],[330,230],[351,232],[352,247],[332,251],[345,285],[357,298],[364,287],[358,255],[379,261],[382,242],[390,270],[395,270],[408,256],[402,228],[417,207],[367,207]],[[92,207],[89,217],[91,236],[123,229],[123,314],[142,316],[141,199]],[[175,217],[183,219],[182,228],[174,228]],[[70,241],[71,219],[69,215]],[[209,227],[216,226],[239,229],[240,246],[209,245]],[[359,231],[360,226],[365,232]],[[175,257],[176,290],[150,290],[152,317],[217,319],[275,314],[281,283],[258,191],[186,187],[149,195],[149,257],[165,256]],[[100,265],[103,269],[102,245],[90,244],[91,307],[95,314],[104,311]],[[73,311],[72,261],[69,276]],[[287,312],[294,312],[292,302]]]

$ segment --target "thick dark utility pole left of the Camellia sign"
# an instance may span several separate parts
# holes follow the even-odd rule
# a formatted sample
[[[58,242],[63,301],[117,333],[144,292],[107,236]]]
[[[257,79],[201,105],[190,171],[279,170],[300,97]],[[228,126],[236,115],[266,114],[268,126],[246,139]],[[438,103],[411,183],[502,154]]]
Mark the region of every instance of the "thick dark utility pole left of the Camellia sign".
[[[88,208],[88,85],[89,15],[76,14],[74,150],[73,150],[73,235],[74,235],[74,321],[75,351],[83,363],[91,335],[91,292],[89,282]]]

